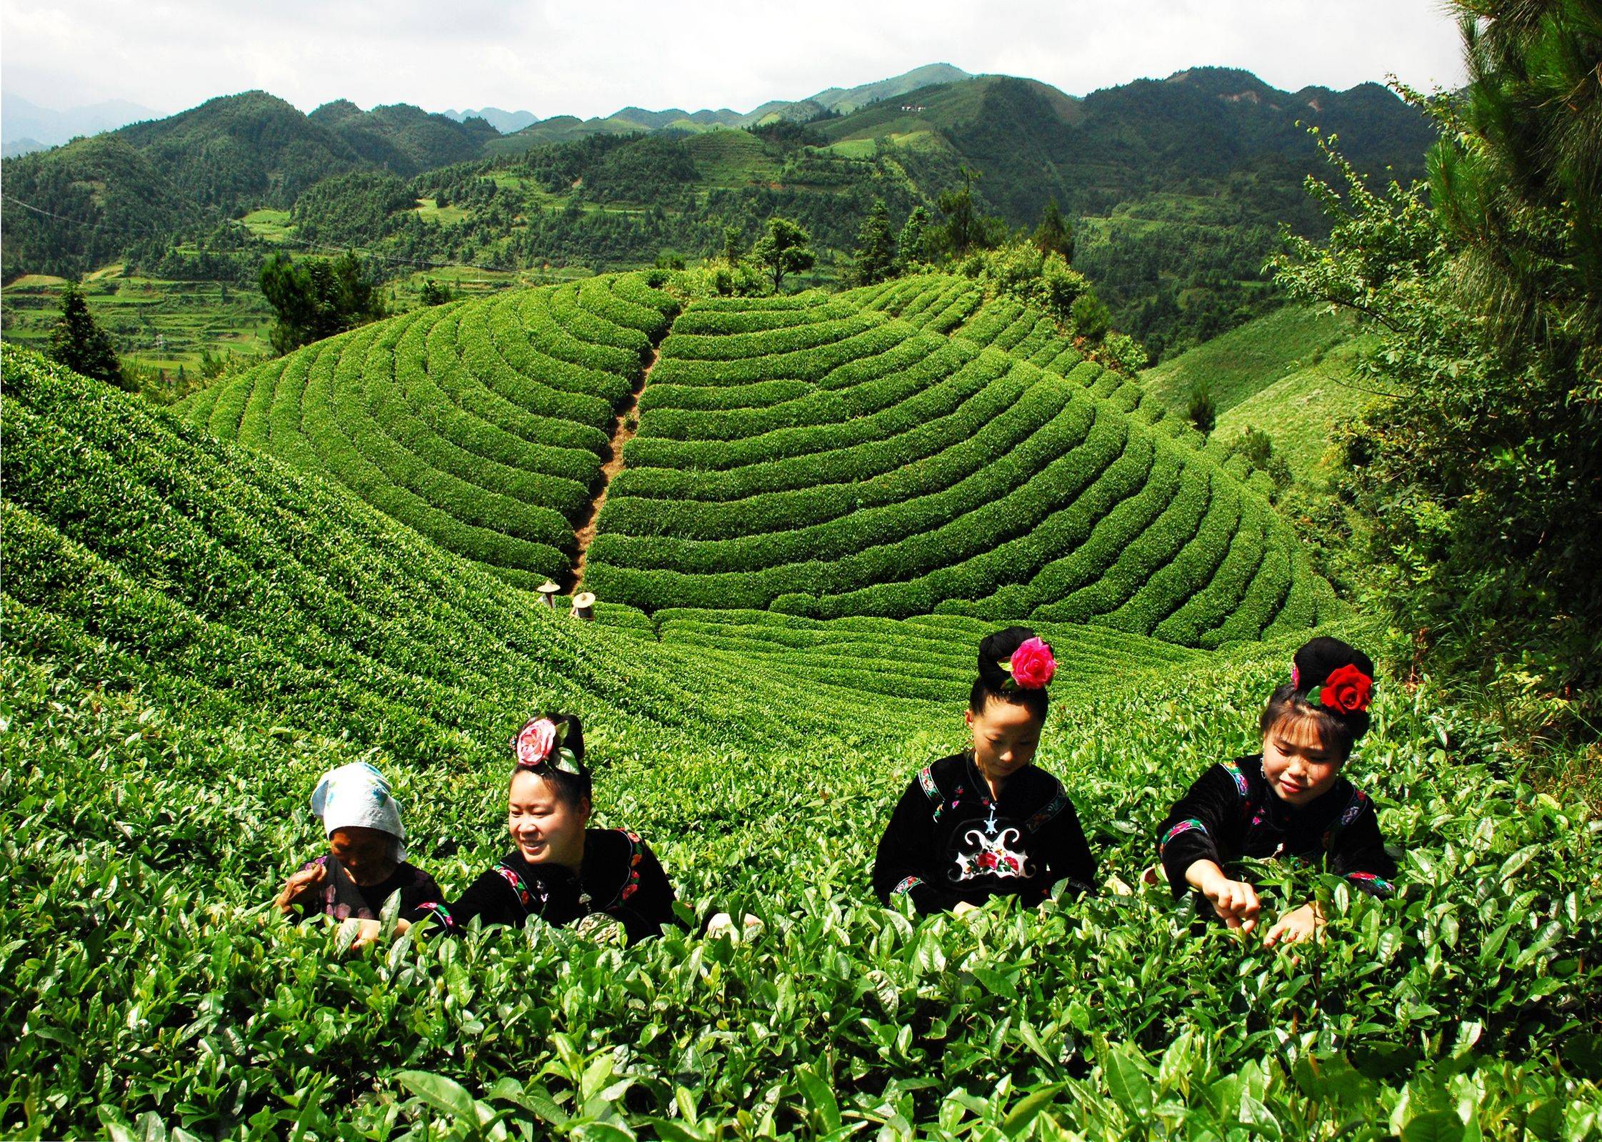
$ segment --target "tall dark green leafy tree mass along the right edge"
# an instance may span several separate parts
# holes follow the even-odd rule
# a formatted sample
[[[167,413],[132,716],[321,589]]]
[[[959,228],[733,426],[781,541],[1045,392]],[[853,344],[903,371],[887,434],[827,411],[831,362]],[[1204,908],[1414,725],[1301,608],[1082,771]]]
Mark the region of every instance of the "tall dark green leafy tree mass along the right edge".
[[[1376,601],[1503,716],[1544,732],[1567,708],[1594,735],[1602,24],[1581,0],[1456,8],[1469,85],[1426,103],[1429,186],[1376,194],[1320,139],[1342,186],[1310,189],[1333,232],[1286,237],[1275,267],[1293,298],[1381,333],[1360,380],[1392,399],[1344,440]]]

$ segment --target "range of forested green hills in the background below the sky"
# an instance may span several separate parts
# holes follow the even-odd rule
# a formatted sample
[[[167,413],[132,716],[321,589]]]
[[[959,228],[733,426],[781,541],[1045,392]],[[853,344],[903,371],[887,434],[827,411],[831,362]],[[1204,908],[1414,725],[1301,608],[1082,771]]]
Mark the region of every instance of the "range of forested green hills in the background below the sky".
[[[942,80],[907,91],[921,75]],[[1421,173],[1431,133],[1384,88],[1278,91],[1250,72],[1192,69],[1083,99],[1035,80],[936,64],[894,80],[723,112],[630,107],[556,117],[513,136],[417,107],[311,115],[261,91],[5,162],[3,274],[82,274],[127,259],[159,277],[255,280],[271,248],[354,245],[386,266],[625,269],[663,251],[750,242],[783,213],[812,231],[825,275],[875,199],[894,215],[937,199],[963,168],[980,205],[1033,226],[1056,199],[1075,266],[1120,328],[1171,354],[1261,312],[1278,226],[1315,234],[1302,192],[1320,160],[1306,123],[1341,135],[1363,170]],[[888,93],[889,98],[883,98]],[[863,99],[876,99],[859,106]],[[807,122],[796,117],[809,114]],[[540,143],[543,138],[561,139]],[[516,154],[487,154],[521,147]],[[13,203],[14,205],[14,203]],[[269,234],[234,219],[290,210]]]

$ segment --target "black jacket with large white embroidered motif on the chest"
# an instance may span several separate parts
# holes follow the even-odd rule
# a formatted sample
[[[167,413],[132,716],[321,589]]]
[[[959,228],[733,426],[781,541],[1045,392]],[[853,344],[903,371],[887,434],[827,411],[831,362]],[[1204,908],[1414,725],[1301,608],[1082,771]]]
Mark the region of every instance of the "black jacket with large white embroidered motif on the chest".
[[[879,900],[905,894],[920,913],[1001,894],[1035,905],[1061,879],[1081,892],[1096,883],[1096,859],[1062,782],[1025,766],[993,801],[969,753],[913,778],[873,862]]]

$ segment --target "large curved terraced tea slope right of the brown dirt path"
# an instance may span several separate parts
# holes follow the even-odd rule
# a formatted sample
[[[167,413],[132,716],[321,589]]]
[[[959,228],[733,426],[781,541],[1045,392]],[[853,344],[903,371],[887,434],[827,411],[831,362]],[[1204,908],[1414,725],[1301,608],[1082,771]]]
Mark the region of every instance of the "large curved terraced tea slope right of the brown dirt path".
[[[924,288],[932,306],[958,285],[863,296]],[[955,336],[823,295],[692,303],[586,586],[647,612],[1030,617],[1195,647],[1330,620],[1269,506],[1131,415],[1048,327],[1012,301]]]

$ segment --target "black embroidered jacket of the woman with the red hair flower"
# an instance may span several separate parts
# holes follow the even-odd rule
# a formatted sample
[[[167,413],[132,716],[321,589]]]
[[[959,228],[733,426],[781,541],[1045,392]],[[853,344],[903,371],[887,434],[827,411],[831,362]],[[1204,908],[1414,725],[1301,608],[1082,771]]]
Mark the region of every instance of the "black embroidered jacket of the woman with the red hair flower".
[[[1174,897],[1190,889],[1197,860],[1296,857],[1328,860],[1336,876],[1375,895],[1391,895],[1397,865],[1379,836],[1375,802],[1344,777],[1323,796],[1293,806],[1269,788],[1262,754],[1210,766],[1161,823],[1158,855]]]

